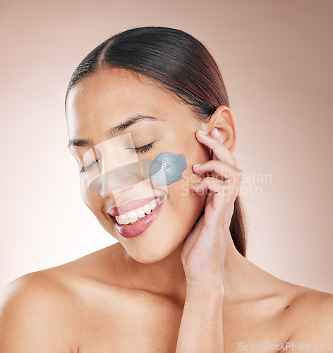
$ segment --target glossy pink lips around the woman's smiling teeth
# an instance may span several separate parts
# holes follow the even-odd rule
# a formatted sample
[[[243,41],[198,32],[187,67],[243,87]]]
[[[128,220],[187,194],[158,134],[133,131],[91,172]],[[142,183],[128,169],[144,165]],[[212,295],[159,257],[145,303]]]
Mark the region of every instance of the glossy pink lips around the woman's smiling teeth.
[[[115,217],[112,217],[112,220],[114,221],[114,225],[116,226],[116,229],[118,230],[119,234],[121,234],[122,237],[124,238],[133,238],[137,237],[138,235],[142,234],[145,232],[145,230],[150,227],[152,222],[156,219],[157,215],[159,214],[159,211],[162,208],[163,201],[164,201],[164,196],[157,196],[156,198],[160,199],[159,205],[157,205],[154,210],[152,210],[151,213],[148,215],[145,215],[145,217],[140,218],[140,220],[137,220],[133,225],[131,223],[128,223],[128,225],[119,225],[119,223],[116,221]],[[154,200],[155,198],[144,198],[142,200]],[[140,200],[141,201],[141,200]],[[126,204],[127,205],[127,204]],[[132,203],[133,205],[133,203]],[[145,203],[143,203],[145,205]],[[140,206],[138,206],[140,207]],[[111,209],[112,210],[112,209]],[[135,210],[135,208],[133,208]]]

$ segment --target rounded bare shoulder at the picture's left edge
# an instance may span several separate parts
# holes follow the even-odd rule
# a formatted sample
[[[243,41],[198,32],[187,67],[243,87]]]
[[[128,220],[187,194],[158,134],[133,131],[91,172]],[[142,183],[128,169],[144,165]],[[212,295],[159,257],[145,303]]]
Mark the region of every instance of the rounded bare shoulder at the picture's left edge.
[[[74,317],[71,296],[47,270],[19,277],[1,292],[0,352],[73,352]]]

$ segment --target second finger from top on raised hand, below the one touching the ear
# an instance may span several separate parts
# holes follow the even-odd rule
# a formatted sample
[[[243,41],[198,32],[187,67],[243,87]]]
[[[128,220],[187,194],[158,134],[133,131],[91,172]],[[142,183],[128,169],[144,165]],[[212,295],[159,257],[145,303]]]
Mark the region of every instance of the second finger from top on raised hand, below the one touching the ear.
[[[220,160],[209,160],[202,164],[194,164],[193,172],[198,174],[205,174],[208,172],[215,172],[217,179],[224,181],[231,179],[232,182],[241,183],[243,181],[243,171],[234,167],[231,164],[222,162]]]

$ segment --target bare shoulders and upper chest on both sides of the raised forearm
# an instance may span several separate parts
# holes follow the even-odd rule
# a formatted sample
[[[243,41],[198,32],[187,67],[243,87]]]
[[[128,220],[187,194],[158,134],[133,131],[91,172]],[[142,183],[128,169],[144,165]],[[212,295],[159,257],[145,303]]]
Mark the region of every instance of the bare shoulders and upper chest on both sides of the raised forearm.
[[[311,331],[320,333],[320,325],[332,323],[332,294],[279,280],[229,245],[224,280],[225,352],[238,352],[239,342],[279,345],[303,330],[314,327]],[[229,256],[230,249],[234,256]],[[26,347],[30,337],[31,347],[42,345],[42,349],[20,352],[174,352],[186,292],[181,275],[172,281],[172,276],[164,277],[156,268],[142,268],[138,276],[137,269],[128,270],[126,261],[120,261],[123,255],[123,247],[116,243],[16,280],[8,288],[14,294],[5,315],[12,316],[15,325],[9,332],[20,342],[11,347]],[[177,273],[178,268],[181,274],[181,263],[172,261],[172,256],[176,252],[168,259],[169,270]],[[25,307],[18,307],[22,303]],[[13,320],[13,316],[18,317]],[[29,328],[23,317],[30,323],[37,321],[35,327]],[[49,318],[52,328],[45,327]],[[332,329],[324,337],[314,343],[332,342]],[[57,349],[45,349],[50,347]],[[4,346],[1,352],[13,351]]]

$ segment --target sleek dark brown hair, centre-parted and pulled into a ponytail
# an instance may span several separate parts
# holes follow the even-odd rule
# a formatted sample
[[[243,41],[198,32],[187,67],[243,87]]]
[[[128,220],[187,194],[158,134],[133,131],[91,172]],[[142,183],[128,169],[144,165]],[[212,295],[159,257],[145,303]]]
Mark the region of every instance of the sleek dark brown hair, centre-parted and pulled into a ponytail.
[[[222,75],[205,45],[182,30],[159,26],[132,28],[99,44],[81,61],[68,84],[68,92],[80,80],[100,68],[118,66],[143,73],[162,83],[195,112],[209,121],[220,105],[229,106]],[[246,256],[246,217],[239,196],[230,224],[236,249]]]

